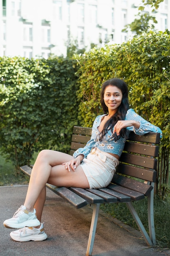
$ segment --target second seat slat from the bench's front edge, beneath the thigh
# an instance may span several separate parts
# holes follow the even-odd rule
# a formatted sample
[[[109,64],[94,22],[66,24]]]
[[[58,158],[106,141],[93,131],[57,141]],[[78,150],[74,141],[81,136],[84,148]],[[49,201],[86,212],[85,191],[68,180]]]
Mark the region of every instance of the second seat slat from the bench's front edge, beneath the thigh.
[[[90,193],[89,191],[87,191],[85,189],[74,188],[74,187],[70,187],[69,189],[71,191],[73,191],[74,193],[76,193],[77,195],[80,195],[85,200],[87,200],[89,202],[89,204],[102,204],[105,202],[105,200],[103,198],[101,198],[98,195],[95,195],[93,193]]]

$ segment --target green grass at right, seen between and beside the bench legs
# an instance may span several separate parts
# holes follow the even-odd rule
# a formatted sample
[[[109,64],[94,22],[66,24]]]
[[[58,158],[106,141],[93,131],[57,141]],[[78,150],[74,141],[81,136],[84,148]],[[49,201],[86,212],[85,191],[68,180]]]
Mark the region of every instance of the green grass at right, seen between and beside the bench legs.
[[[133,202],[146,231],[148,231],[147,198]],[[114,218],[121,220],[126,225],[138,229],[129,209],[125,203],[105,204],[101,206],[102,211],[109,213]],[[170,248],[170,200],[162,201],[159,198],[154,200],[154,222],[157,247],[161,249]]]

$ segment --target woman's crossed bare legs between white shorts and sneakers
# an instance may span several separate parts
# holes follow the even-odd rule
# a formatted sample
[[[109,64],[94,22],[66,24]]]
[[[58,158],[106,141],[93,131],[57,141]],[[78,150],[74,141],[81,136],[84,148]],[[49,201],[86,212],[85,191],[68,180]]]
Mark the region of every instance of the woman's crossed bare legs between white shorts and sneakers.
[[[63,162],[73,157],[54,150],[42,150],[33,166],[24,206],[30,212],[35,207],[37,218],[41,222],[41,214],[46,200],[46,182],[56,186],[77,186],[89,188],[89,183],[81,166],[75,171],[68,171]]]

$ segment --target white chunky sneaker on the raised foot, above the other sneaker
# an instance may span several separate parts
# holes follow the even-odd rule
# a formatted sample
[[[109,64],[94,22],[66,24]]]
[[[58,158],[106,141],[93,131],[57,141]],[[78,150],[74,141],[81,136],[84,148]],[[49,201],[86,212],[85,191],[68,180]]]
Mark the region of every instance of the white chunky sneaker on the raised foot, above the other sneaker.
[[[21,229],[22,227],[37,227],[41,223],[37,219],[36,210],[31,213],[26,210],[26,207],[22,205],[17,211],[14,213],[13,218],[5,220],[4,226],[9,229]]]

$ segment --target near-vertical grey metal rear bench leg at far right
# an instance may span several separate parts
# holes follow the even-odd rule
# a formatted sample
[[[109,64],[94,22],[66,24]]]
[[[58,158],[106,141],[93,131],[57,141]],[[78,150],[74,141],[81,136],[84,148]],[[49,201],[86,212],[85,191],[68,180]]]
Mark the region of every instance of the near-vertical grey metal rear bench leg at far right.
[[[153,190],[150,192],[150,195],[148,196],[148,226],[149,226],[150,239],[152,240],[153,245],[156,245],[154,211],[153,211],[154,183],[151,185],[153,186]]]

